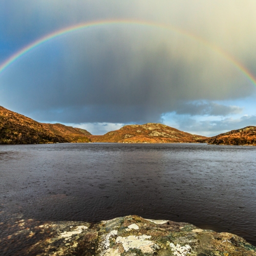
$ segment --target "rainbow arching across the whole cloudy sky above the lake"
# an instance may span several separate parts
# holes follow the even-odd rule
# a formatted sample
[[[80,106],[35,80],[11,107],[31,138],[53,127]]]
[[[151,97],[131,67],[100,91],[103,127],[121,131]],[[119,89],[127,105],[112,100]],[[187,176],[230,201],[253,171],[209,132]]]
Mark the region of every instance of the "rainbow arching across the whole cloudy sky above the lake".
[[[22,57],[24,54],[31,51],[32,49],[38,47],[41,44],[44,44],[45,42],[47,42],[47,41],[49,41],[49,40],[51,40],[55,37],[70,33],[72,31],[81,30],[81,29],[84,29],[84,28],[106,26],[106,25],[118,25],[118,24],[150,26],[150,27],[166,29],[166,30],[170,30],[170,31],[177,32],[179,34],[185,35],[185,36],[187,36],[189,38],[192,38],[196,41],[199,41],[202,44],[204,44],[205,46],[207,46],[208,48],[218,52],[219,54],[224,56],[227,60],[229,60],[232,63],[232,65],[234,67],[236,67],[239,71],[241,71],[252,82],[252,84],[256,87],[256,78],[253,76],[253,74],[250,73],[250,71],[248,71],[232,55],[226,53],[220,47],[218,47],[214,44],[211,44],[211,42],[209,42],[209,41],[207,41],[207,40],[205,40],[205,39],[203,39],[203,38],[201,38],[197,35],[194,35],[194,34],[188,32],[186,30],[177,28],[177,27],[172,26],[172,25],[166,25],[166,24],[155,23],[155,22],[147,22],[147,21],[143,21],[143,20],[123,20],[123,19],[121,19],[121,20],[97,20],[97,21],[88,22],[88,23],[80,23],[80,24],[77,24],[77,25],[74,25],[74,26],[70,26],[70,27],[66,27],[66,28],[57,30],[55,32],[52,32],[52,33],[44,36],[44,37],[41,37],[41,38],[37,39],[36,41],[32,42],[31,44],[29,44],[28,46],[24,47],[23,49],[19,50],[18,52],[16,52],[12,56],[10,56],[8,59],[6,59],[0,65],[0,75],[7,67],[9,67],[13,62],[15,62],[15,60]]]

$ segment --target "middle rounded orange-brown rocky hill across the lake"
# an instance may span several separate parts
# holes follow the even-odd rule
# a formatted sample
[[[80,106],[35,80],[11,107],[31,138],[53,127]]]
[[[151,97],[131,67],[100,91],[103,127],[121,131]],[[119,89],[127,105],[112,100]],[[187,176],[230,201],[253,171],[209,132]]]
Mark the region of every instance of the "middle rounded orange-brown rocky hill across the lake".
[[[121,143],[171,143],[171,142],[196,142],[206,137],[179,131],[160,123],[146,123],[125,125],[121,129],[93,135],[93,142],[121,142]]]

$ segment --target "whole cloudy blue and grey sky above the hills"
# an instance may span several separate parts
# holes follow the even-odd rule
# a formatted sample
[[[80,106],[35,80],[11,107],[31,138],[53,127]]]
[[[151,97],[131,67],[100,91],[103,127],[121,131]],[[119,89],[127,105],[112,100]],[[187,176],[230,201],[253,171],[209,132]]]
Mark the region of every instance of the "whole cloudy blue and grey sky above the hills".
[[[2,0],[0,105],[94,135],[256,125],[254,0]]]

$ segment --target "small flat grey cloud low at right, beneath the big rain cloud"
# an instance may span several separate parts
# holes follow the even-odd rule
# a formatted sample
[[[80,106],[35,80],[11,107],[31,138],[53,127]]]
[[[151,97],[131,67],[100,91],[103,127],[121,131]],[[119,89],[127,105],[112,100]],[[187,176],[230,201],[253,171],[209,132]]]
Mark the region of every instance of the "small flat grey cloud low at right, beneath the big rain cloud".
[[[188,102],[179,106],[177,114],[208,115],[208,116],[227,116],[230,114],[239,114],[243,108],[239,106],[227,106],[216,102]]]

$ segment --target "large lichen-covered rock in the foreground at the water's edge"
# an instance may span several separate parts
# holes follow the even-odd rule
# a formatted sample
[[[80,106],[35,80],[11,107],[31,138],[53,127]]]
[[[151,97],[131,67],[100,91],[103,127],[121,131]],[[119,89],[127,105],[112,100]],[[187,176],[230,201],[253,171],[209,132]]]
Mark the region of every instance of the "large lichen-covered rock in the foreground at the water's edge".
[[[30,246],[23,255],[256,255],[256,247],[231,233],[138,216],[96,224],[48,222],[31,227],[22,220],[18,225],[22,230],[8,239],[16,239],[17,243],[15,236],[24,233],[23,243]]]

